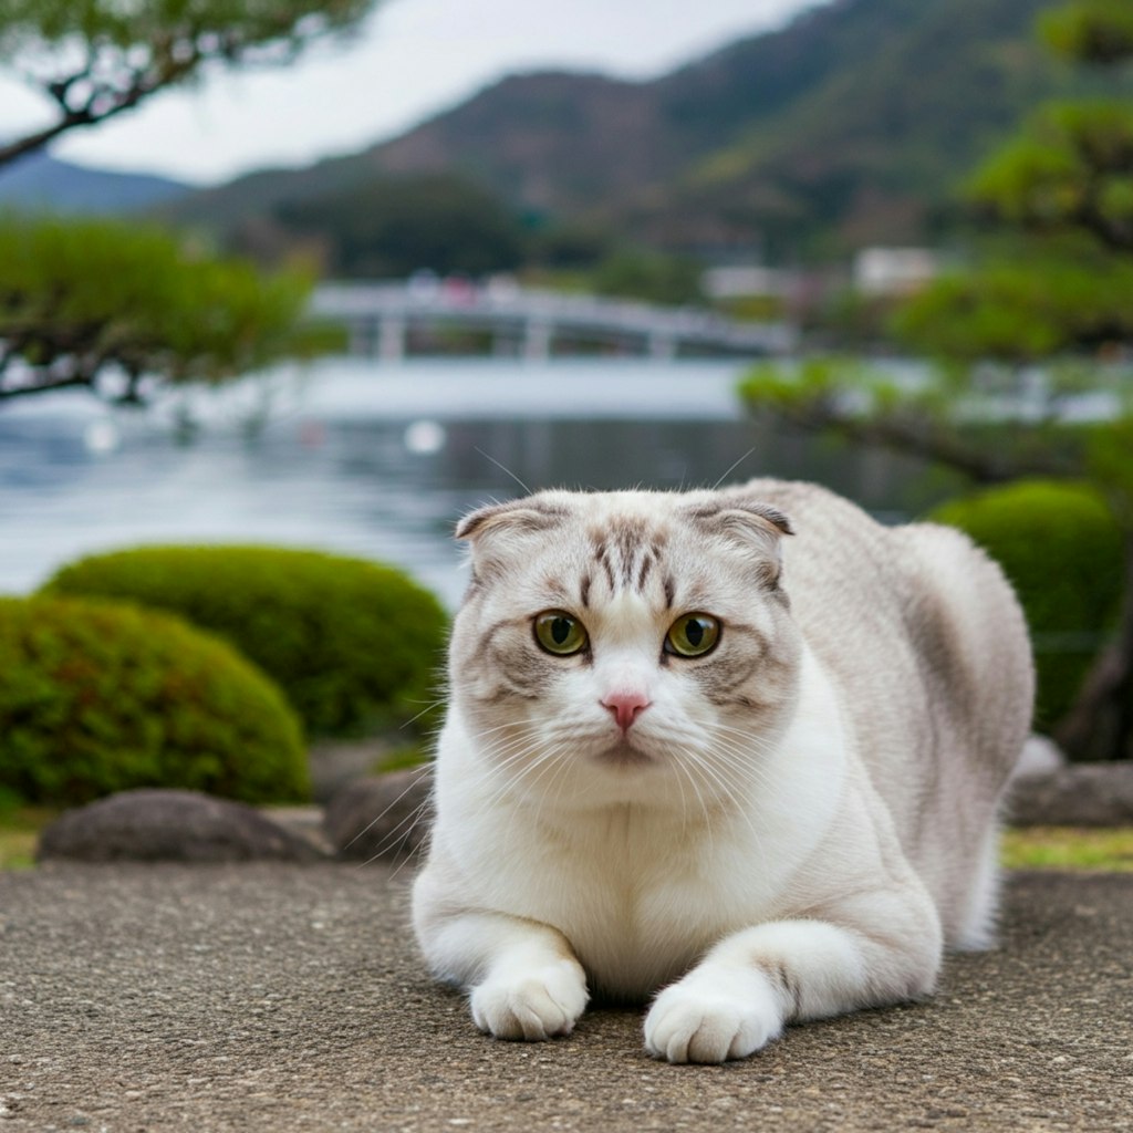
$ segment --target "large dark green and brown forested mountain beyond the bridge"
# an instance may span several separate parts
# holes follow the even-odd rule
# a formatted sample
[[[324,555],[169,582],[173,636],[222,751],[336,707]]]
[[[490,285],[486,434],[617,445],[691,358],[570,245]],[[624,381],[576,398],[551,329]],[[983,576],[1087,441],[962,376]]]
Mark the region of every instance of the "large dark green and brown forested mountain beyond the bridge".
[[[393,140],[185,198],[231,235],[391,176],[476,180],[530,224],[723,258],[922,241],[957,184],[1081,80],[1033,35],[1051,0],[828,0],[651,82],[505,78]]]

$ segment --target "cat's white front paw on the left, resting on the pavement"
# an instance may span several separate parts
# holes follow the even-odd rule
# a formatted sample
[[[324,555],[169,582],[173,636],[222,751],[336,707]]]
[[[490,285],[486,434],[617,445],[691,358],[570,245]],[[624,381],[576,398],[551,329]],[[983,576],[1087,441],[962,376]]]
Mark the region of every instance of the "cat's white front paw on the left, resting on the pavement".
[[[529,971],[489,976],[472,988],[472,1021],[497,1039],[543,1039],[570,1034],[586,1010],[586,976],[574,960]]]

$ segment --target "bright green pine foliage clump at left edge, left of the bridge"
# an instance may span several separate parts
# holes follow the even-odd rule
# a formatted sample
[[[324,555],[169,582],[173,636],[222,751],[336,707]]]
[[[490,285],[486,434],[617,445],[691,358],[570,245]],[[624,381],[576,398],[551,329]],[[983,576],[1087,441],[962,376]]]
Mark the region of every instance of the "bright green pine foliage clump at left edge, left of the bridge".
[[[263,275],[159,229],[0,220],[0,400],[117,381],[218,382],[337,341],[301,322],[309,280]]]

